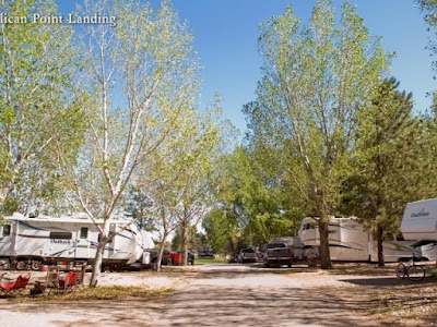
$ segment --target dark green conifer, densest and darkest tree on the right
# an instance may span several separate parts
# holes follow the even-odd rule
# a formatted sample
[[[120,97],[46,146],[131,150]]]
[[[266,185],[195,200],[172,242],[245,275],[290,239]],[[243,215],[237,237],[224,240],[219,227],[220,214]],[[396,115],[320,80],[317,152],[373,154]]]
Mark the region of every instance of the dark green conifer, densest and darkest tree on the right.
[[[380,266],[385,235],[398,232],[405,203],[417,199],[426,189],[426,183],[418,182],[422,162],[427,160],[418,152],[422,126],[412,116],[412,94],[398,87],[395,78],[385,80],[371,106],[359,110],[353,174],[344,184],[352,191],[343,198],[350,201],[346,211],[363,218],[374,231]]]

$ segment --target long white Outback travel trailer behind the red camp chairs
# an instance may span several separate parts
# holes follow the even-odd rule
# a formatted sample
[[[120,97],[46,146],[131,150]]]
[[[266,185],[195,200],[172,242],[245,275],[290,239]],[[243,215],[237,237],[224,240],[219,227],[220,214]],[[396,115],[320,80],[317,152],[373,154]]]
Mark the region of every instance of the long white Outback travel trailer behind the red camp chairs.
[[[103,223],[103,220],[98,222]],[[111,233],[119,234],[105,247],[104,266],[130,265],[142,261],[143,249],[151,245],[151,239],[143,241],[144,232],[132,220],[111,219]],[[0,263],[3,268],[19,270],[28,265],[38,270],[43,263],[91,263],[96,254],[98,238],[98,229],[84,214],[31,218],[15,213],[5,217],[0,226]]]

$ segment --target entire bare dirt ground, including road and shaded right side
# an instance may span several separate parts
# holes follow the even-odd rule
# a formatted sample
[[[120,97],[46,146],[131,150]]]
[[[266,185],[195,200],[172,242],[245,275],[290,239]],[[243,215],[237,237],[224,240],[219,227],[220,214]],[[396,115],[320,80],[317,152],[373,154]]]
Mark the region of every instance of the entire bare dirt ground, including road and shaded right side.
[[[174,266],[160,274],[105,272],[102,288],[143,288],[150,294],[0,299],[0,315],[2,326],[23,326],[32,319],[35,327],[430,326],[437,319],[436,272],[429,266],[420,284],[398,279],[392,264],[343,264],[332,271],[267,269],[259,263]]]

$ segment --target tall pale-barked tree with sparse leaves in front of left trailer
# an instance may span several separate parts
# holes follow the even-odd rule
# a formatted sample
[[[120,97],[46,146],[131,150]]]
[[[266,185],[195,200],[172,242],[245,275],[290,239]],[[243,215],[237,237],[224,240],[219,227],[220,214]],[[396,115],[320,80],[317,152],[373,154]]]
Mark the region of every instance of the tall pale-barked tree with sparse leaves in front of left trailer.
[[[84,1],[80,9],[81,14],[96,12],[116,16],[117,26],[78,26],[87,133],[79,160],[59,152],[63,173],[74,186],[71,198],[101,232],[92,287],[98,281],[105,245],[115,237],[109,219],[121,210],[129,187],[138,184],[140,164],[178,132],[175,121],[181,108],[197,98],[199,71],[192,36],[168,1],[156,12],[137,0]]]

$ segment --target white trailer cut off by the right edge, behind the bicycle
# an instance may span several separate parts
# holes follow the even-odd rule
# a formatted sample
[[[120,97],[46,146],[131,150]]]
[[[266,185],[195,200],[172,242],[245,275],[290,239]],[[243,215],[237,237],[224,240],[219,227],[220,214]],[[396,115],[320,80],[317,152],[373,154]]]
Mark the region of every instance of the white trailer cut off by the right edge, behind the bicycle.
[[[401,221],[405,240],[417,240],[422,255],[437,259],[437,198],[408,203]]]

